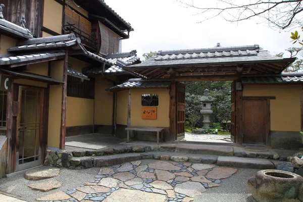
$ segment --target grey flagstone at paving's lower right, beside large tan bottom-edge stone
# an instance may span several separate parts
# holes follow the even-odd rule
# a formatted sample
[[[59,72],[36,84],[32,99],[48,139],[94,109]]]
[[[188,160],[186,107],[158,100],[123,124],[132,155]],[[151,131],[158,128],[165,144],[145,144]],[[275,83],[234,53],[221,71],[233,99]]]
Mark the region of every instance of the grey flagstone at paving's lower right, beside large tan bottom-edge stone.
[[[175,192],[189,197],[196,197],[206,192],[206,189],[199,182],[183,182],[175,186]]]

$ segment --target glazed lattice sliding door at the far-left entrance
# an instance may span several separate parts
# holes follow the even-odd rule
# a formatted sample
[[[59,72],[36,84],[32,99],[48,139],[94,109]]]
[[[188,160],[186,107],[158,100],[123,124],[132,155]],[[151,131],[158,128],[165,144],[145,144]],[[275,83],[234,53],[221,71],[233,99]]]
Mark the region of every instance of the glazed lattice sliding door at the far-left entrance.
[[[43,94],[42,88],[19,86],[16,171],[42,164]]]

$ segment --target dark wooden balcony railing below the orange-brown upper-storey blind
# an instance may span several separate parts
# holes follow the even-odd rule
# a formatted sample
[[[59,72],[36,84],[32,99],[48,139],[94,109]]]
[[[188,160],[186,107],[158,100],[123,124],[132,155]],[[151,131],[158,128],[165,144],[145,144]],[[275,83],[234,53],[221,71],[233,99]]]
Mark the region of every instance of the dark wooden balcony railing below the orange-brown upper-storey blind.
[[[79,37],[81,39],[81,42],[84,45],[88,46],[94,51],[97,51],[97,38],[75,27],[75,24],[67,23],[67,25],[63,25],[63,32],[64,34],[74,33],[76,37]]]

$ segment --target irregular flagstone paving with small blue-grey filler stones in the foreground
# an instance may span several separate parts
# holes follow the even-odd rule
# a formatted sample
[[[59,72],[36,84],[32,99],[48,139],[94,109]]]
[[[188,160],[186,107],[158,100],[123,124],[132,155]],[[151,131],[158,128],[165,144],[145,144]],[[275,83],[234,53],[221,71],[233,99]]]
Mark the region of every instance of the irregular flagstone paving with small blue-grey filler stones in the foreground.
[[[235,168],[140,160],[102,167],[95,179],[74,189],[36,198],[39,201],[191,201],[208,188],[221,186]]]

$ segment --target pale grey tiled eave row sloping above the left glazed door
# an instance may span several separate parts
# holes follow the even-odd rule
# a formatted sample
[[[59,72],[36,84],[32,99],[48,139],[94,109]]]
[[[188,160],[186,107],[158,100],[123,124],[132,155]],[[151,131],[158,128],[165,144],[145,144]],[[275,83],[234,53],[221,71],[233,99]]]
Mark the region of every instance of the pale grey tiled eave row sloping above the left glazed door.
[[[12,65],[15,63],[21,63],[26,61],[40,60],[45,58],[52,58],[58,56],[64,56],[65,52],[59,53],[37,53],[26,55],[0,55],[0,65]]]

